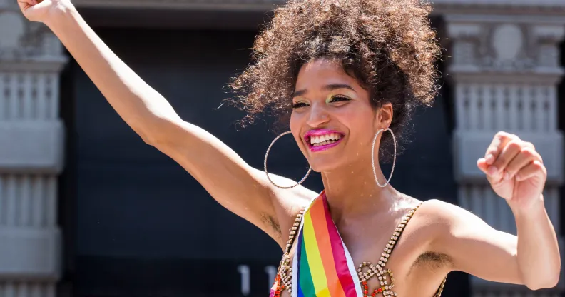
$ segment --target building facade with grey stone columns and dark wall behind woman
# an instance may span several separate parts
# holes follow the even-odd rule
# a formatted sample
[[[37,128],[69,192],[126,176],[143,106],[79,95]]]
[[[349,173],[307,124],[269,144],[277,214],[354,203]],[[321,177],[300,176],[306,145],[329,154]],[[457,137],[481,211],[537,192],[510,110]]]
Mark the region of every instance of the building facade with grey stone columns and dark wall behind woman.
[[[268,123],[238,129],[243,115],[218,106],[222,86],[248,64],[265,12],[281,3],[74,1],[183,119],[258,168],[275,137]],[[431,17],[446,49],[443,88],[415,116],[392,184],[516,233],[475,165],[497,131],[516,133],[544,158],[547,209],[561,236],[565,1],[436,0]],[[277,145],[270,168],[300,178],[300,152],[290,140]],[[306,186],[320,190],[319,179]],[[0,296],[265,296],[279,258],[269,238],[146,146],[48,29],[0,0]],[[444,296],[563,291],[454,273]]]

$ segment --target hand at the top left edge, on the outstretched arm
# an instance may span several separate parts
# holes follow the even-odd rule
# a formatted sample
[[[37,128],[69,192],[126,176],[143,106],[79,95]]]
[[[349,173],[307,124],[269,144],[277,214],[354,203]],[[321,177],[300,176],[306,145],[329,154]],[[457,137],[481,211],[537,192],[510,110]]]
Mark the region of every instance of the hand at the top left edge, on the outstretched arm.
[[[73,8],[70,0],[17,0],[21,12],[29,21],[46,23],[61,12]]]

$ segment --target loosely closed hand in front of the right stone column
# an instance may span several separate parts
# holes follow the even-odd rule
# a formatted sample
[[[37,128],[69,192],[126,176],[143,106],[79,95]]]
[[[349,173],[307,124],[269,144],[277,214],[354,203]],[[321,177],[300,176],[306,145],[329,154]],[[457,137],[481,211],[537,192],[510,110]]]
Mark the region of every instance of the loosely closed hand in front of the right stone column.
[[[514,134],[499,132],[477,161],[498,196],[511,208],[528,211],[541,198],[547,171],[534,145]]]

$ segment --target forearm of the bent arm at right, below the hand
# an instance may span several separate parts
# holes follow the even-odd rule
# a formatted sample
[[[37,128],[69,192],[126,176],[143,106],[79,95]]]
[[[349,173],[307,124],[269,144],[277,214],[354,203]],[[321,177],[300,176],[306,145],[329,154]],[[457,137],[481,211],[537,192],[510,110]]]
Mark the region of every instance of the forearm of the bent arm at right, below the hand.
[[[528,211],[512,211],[518,230],[517,261],[522,281],[531,289],[555,286],[559,281],[561,258],[543,196]]]

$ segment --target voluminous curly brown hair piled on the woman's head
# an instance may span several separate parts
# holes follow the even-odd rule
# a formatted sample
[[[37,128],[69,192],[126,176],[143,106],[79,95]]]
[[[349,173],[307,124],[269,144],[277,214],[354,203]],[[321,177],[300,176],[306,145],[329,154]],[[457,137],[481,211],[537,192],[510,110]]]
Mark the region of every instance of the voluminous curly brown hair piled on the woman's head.
[[[422,0],[289,0],[257,36],[253,63],[229,84],[232,102],[247,112],[244,124],[268,112],[287,125],[300,67],[337,59],[375,108],[392,104],[398,141],[414,107],[431,105],[437,93],[440,48],[430,11]],[[391,144],[384,134],[382,157],[390,157]]]

